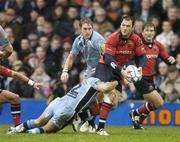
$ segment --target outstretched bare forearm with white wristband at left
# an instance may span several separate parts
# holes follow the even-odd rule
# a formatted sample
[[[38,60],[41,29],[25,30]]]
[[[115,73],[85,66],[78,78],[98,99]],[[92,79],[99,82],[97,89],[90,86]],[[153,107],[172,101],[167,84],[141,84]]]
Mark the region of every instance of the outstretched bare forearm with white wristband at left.
[[[24,82],[27,82],[28,85],[33,86],[36,89],[40,89],[40,88],[44,87],[42,84],[35,82],[35,81],[29,79],[28,77],[26,77],[25,75],[23,75],[19,72],[13,71],[13,70],[11,70],[11,77],[16,78],[21,81],[24,81]]]

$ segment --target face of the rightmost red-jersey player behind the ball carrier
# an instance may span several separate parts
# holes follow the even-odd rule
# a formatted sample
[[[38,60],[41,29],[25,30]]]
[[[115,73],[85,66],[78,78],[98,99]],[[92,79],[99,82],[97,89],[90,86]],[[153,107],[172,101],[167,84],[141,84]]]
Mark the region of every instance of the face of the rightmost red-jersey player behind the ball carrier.
[[[142,35],[143,35],[145,41],[151,42],[155,36],[154,27],[145,27],[142,32]]]

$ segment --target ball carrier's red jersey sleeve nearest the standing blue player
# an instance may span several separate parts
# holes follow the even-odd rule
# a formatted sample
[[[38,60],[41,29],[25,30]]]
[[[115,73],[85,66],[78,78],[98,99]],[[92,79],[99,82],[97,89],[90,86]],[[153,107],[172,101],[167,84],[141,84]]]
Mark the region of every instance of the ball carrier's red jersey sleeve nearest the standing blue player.
[[[117,32],[111,34],[105,43],[105,49],[104,49],[104,53],[110,54],[112,56],[115,55],[116,52],[116,48],[119,44],[119,34]]]

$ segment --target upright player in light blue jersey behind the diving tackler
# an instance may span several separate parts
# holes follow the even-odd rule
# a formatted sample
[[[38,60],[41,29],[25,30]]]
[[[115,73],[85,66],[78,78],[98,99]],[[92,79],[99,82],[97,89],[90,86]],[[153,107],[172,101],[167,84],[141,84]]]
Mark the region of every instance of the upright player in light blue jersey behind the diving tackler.
[[[98,61],[103,53],[103,46],[105,44],[105,39],[96,31],[93,30],[93,23],[90,19],[84,18],[80,21],[81,34],[74,40],[72,45],[72,49],[68,58],[65,61],[63,71],[61,74],[61,80],[66,83],[69,79],[68,71],[71,69],[73,62],[79,54],[83,55],[83,59],[87,64],[87,68],[84,73],[84,78],[88,78],[93,75],[95,72],[95,67],[98,64]],[[79,115],[80,117],[84,117],[87,115],[87,112],[83,112],[85,114]],[[81,117],[81,119],[83,119]],[[92,117],[91,117],[92,118]],[[94,118],[93,118],[94,119]],[[93,119],[89,120],[89,130],[92,132],[96,132],[95,124]],[[78,121],[73,121],[73,128],[77,131]]]

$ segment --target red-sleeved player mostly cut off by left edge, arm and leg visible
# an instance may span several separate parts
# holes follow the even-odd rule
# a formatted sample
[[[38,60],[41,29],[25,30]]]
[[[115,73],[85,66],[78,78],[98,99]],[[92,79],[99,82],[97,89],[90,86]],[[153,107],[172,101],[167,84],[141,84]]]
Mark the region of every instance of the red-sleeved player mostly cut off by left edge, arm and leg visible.
[[[0,65],[0,75],[6,76],[6,77],[13,77],[19,80],[22,80],[24,82],[27,82],[30,86],[33,86],[35,89],[39,89],[43,87],[40,83],[37,83],[28,77],[10,70],[6,67],[3,67]],[[2,103],[10,103],[11,104],[11,114],[13,116],[13,122],[14,125],[17,126],[20,124],[20,113],[21,113],[21,107],[20,107],[20,98],[19,95],[0,89],[0,104]]]

